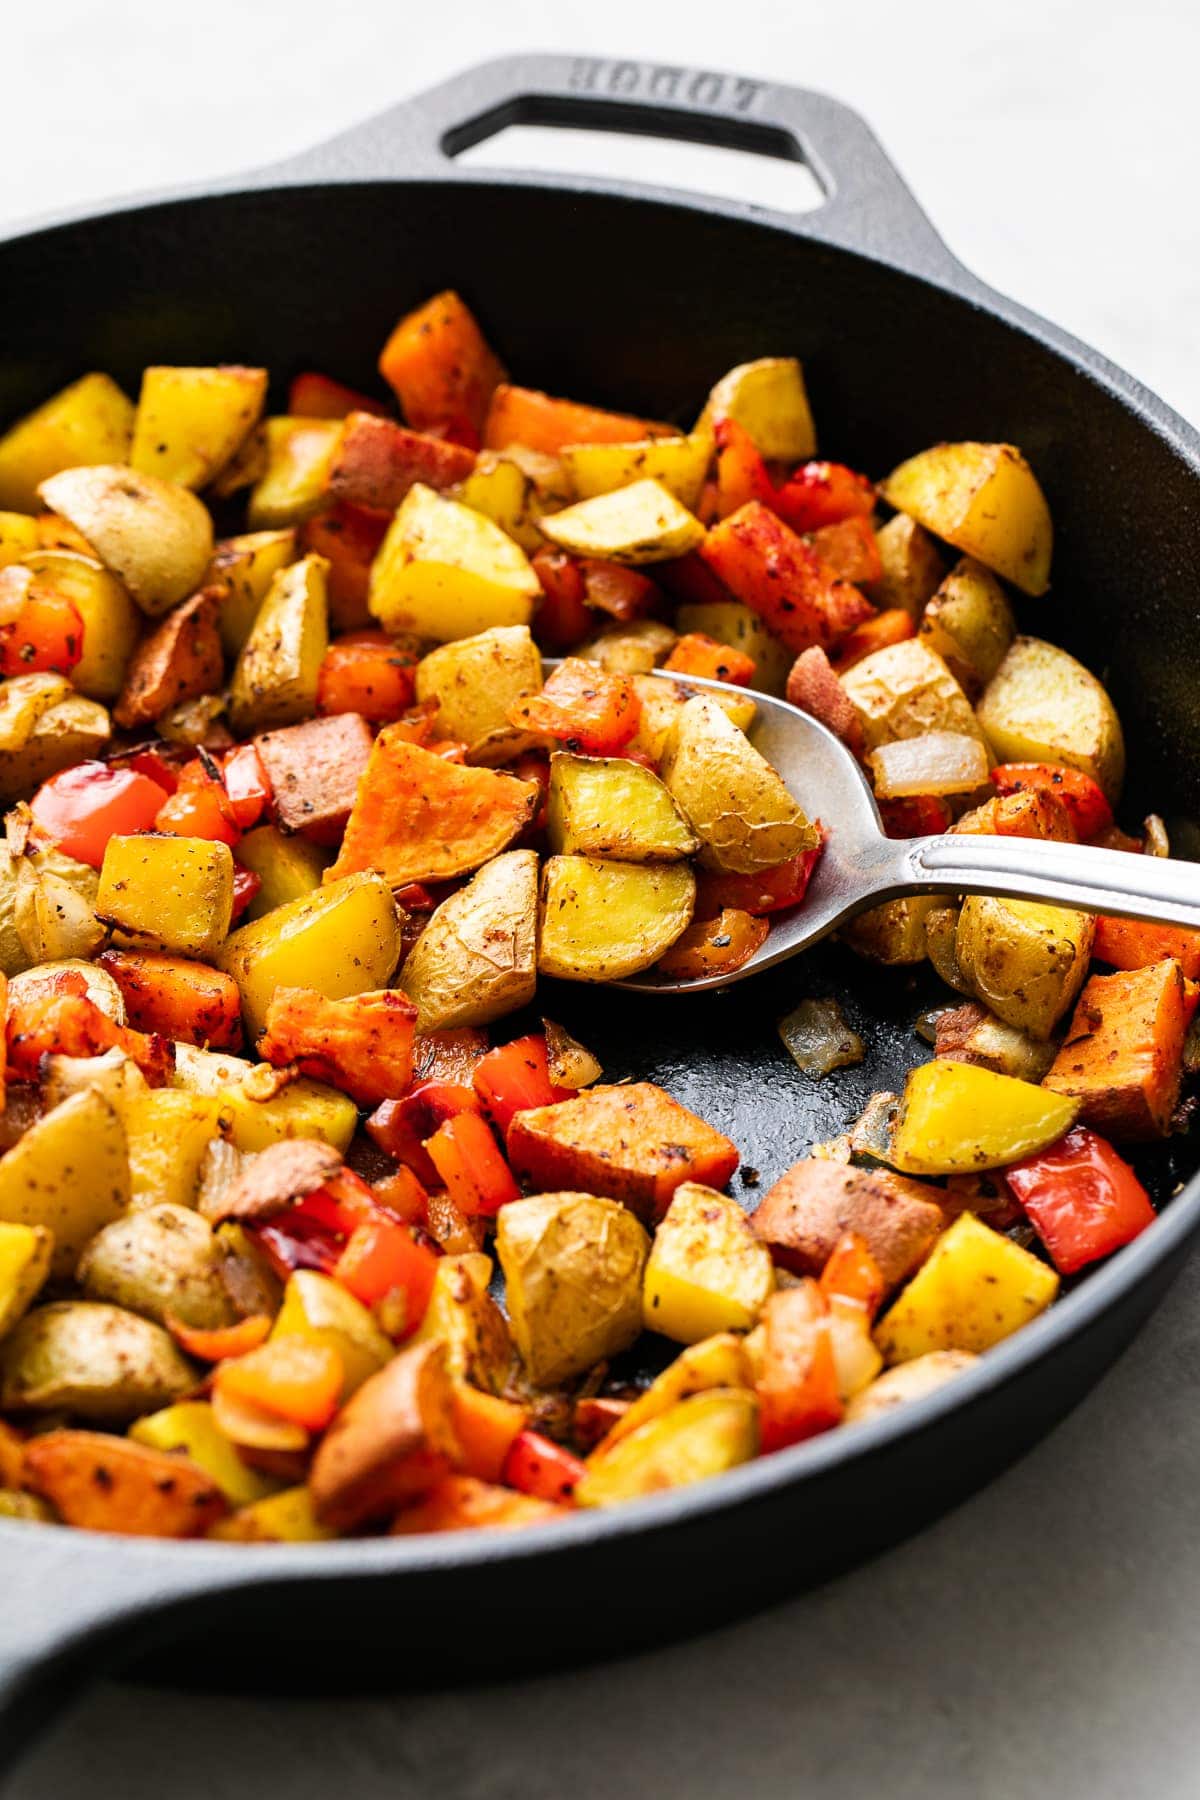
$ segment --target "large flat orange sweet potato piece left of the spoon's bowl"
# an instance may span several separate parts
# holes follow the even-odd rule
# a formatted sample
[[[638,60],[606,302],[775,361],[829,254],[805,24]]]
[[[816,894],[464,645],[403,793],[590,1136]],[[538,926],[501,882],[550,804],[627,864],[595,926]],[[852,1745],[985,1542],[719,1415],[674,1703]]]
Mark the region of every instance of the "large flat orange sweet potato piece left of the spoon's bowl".
[[[468,875],[513,842],[538,797],[533,781],[448,763],[385,725],[326,880],[378,869],[392,887],[403,887]]]

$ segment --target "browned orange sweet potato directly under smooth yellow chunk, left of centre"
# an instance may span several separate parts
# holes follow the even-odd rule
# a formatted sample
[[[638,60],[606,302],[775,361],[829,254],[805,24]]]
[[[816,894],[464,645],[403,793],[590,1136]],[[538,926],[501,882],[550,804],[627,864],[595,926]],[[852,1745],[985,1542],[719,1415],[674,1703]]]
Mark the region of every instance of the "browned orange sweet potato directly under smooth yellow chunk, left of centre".
[[[257,1051],[282,1067],[295,1062],[315,1082],[340,1087],[360,1107],[398,1100],[412,1087],[417,1008],[396,988],[326,999],[315,988],[275,988]]]

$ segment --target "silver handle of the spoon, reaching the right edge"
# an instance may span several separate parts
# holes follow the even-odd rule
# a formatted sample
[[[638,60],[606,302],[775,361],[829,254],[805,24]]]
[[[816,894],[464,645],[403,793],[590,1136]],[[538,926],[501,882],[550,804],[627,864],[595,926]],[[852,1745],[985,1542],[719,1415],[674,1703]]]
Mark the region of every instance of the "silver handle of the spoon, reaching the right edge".
[[[914,837],[896,850],[905,868],[898,886],[918,893],[1007,895],[1200,931],[1200,862],[966,832]]]

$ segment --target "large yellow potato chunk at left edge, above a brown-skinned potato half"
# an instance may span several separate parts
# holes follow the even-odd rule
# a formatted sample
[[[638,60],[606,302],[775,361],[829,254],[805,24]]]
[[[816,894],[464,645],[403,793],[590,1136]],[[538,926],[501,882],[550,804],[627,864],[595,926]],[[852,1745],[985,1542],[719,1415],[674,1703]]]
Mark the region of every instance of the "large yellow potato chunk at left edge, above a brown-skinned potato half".
[[[95,1091],[29,1127],[0,1157],[0,1220],[54,1233],[52,1274],[74,1274],[83,1246],[130,1202],[121,1120]]]

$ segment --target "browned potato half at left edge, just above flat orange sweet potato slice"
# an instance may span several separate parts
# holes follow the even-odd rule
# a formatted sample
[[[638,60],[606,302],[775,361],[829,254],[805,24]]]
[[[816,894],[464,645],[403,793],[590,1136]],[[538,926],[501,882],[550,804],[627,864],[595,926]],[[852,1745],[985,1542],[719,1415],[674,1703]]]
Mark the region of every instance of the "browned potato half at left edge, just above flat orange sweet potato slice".
[[[0,1400],[13,1413],[74,1413],[124,1426],[196,1386],[160,1325],[92,1300],[34,1307],[0,1345]]]

